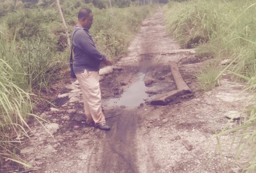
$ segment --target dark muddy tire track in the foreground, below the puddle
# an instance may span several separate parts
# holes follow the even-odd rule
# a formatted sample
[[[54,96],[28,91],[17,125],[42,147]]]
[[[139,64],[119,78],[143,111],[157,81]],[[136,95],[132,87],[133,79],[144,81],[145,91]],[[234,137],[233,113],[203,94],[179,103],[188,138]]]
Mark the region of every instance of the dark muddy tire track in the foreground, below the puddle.
[[[138,173],[135,135],[139,116],[133,109],[123,110],[122,115],[108,123],[112,129],[106,132],[99,172]]]

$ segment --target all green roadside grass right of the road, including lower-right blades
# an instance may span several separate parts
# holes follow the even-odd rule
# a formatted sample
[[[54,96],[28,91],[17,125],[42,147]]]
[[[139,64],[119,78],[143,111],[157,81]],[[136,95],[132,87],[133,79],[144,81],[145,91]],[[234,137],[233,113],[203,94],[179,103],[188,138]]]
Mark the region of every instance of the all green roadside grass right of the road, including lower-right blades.
[[[221,74],[228,70],[236,79],[247,84],[246,90],[255,91],[255,1],[173,0],[164,9],[166,28],[181,47],[195,48],[197,56],[212,58],[212,64],[203,67],[201,73],[197,74],[203,90],[218,86]],[[220,63],[224,59],[230,59],[232,63],[223,67]],[[256,170],[256,106],[246,111],[249,115],[240,126],[222,131],[218,136],[243,131],[239,136],[234,135],[234,138],[241,138],[236,158],[250,146],[250,160],[244,171],[253,173]]]

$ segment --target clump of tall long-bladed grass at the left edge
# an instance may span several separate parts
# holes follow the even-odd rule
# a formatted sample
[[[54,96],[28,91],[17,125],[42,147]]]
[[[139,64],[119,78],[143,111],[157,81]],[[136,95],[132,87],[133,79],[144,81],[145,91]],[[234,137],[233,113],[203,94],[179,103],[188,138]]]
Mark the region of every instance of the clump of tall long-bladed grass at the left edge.
[[[20,162],[14,154],[16,144],[20,141],[15,137],[27,135],[24,127],[28,127],[27,115],[32,111],[30,94],[22,88],[29,88],[26,74],[21,70],[19,54],[15,40],[8,41],[0,32],[0,161]],[[5,163],[0,162],[3,166]]]

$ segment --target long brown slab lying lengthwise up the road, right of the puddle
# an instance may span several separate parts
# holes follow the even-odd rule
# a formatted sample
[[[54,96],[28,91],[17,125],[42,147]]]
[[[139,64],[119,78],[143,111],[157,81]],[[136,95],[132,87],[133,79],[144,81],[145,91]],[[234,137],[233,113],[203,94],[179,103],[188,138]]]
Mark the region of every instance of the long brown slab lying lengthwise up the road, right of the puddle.
[[[187,86],[187,83],[183,80],[183,77],[180,74],[177,63],[176,62],[171,62],[169,64],[169,66],[170,66],[172,77],[174,79],[177,90],[185,90],[187,92],[186,94],[192,93],[189,86]]]

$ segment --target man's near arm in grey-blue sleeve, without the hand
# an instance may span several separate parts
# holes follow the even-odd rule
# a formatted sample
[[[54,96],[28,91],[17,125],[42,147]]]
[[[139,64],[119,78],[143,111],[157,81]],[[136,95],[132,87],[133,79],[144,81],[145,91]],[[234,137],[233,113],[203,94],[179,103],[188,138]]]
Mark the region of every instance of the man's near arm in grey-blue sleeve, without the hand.
[[[81,49],[85,54],[90,55],[92,58],[96,58],[99,61],[105,61],[106,56],[99,52],[94,46],[93,41],[85,30],[78,30],[74,35],[74,41],[76,46]]]

